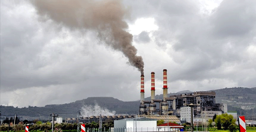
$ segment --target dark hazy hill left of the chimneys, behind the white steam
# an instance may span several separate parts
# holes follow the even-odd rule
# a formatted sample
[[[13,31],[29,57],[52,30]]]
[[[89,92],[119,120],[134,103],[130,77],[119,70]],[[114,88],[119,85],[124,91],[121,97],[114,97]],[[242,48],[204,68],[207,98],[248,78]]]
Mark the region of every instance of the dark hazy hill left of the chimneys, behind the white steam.
[[[98,104],[100,107],[95,107]],[[91,105],[91,106],[90,106]],[[82,107],[90,110],[100,110],[110,112],[116,111],[116,114],[134,114],[138,113],[139,101],[124,102],[113,97],[88,97],[83,100],[68,104],[46,105],[44,107],[28,106],[23,108],[13,106],[0,106],[2,117],[13,116],[15,113],[22,119],[49,119],[51,113],[59,114],[65,118],[77,117],[78,110]]]

